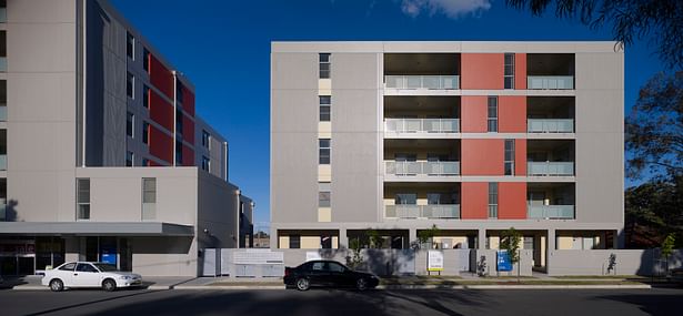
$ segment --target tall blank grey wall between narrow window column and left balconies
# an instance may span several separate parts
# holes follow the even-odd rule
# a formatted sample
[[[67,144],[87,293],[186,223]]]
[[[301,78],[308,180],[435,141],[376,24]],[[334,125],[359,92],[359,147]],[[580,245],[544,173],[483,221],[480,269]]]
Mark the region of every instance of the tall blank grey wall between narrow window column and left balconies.
[[[333,53],[331,61],[332,221],[379,222],[382,59],[376,53]]]

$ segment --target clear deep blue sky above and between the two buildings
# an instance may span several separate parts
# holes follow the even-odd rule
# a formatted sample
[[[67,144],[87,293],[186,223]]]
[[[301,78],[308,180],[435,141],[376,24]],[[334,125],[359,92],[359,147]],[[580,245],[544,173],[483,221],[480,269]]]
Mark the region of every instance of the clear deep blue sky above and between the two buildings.
[[[503,0],[110,1],[194,83],[199,115],[229,140],[230,182],[257,203],[257,228],[270,216],[271,41],[612,39],[609,28],[533,18]],[[640,41],[626,48],[625,69],[627,111],[663,67]]]

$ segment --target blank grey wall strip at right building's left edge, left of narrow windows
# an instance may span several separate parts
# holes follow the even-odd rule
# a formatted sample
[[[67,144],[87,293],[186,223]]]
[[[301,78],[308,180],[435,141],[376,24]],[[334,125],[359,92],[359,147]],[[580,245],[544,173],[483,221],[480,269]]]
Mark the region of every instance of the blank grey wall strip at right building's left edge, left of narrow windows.
[[[318,222],[318,53],[273,52],[272,226]]]

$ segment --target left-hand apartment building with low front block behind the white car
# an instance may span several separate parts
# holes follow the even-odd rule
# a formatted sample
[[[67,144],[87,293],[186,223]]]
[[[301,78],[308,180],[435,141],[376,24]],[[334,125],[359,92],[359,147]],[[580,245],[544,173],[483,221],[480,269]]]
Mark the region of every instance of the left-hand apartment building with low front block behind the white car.
[[[252,235],[192,82],[107,1],[0,4],[2,275],[87,259],[191,276],[203,248]]]

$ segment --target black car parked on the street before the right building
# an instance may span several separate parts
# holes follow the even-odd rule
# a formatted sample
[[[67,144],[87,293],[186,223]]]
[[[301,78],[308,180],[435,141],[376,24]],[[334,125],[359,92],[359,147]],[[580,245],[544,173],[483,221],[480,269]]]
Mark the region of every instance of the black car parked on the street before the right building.
[[[355,287],[359,290],[378,286],[380,279],[370,273],[353,271],[335,261],[310,261],[284,268],[284,285],[307,290],[311,286]]]

